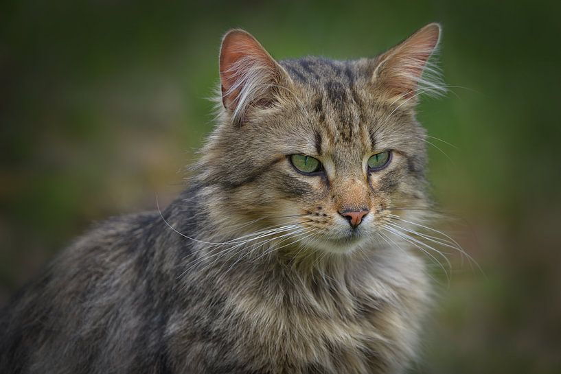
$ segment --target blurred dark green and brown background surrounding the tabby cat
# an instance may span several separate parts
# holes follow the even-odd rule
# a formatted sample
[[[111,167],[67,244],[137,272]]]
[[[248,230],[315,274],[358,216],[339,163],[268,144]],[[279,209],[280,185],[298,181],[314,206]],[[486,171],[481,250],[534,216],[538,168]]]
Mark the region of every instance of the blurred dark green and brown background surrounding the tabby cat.
[[[523,1],[0,5],[0,305],[91,222],[154,209],[212,128],[220,37],[276,58],[374,56],[444,25],[430,178],[486,274],[453,255],[416,373],[561,373],[561,6]],[[444,153],[448,154],[445,156]]]

